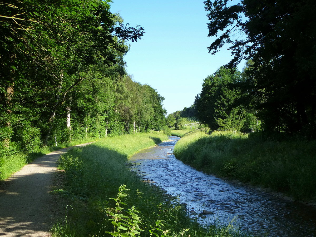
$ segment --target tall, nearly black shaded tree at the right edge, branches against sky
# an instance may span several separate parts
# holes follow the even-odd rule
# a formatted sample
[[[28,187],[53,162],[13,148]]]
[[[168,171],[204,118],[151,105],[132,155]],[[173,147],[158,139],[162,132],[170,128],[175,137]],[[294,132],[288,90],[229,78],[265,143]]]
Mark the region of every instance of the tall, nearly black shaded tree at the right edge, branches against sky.
[[[315,129],[316,6],[313,1],[205,1],[209,36],[221,34],[209,48],[215,54],[224,44],[234,56],[252,59],[249,95],[268,131]],[[237,33],[244,35],[234,40]]]

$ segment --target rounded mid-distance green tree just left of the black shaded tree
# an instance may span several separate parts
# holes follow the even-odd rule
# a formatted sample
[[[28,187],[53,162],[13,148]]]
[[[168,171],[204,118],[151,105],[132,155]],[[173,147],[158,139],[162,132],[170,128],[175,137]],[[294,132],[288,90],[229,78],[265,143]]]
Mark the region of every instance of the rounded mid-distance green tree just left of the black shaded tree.
[[[238,70],[225,67],[206,77],[194,102],[197,119],[212,130],[240,130],[245,113],[243,106],[236,104],[241,96],[236,87],[240,80]]]

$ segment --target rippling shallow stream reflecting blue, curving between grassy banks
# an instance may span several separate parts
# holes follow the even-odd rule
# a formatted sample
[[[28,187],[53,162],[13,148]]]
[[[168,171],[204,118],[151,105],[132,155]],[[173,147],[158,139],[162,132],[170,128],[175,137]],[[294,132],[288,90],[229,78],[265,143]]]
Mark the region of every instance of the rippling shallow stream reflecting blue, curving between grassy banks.
[[[177,160],[173,153],[179,137],[132,156],[134,171],[168,193],[180,195],[188,209],[205,215],[201,222],[233,222],[258,236],[316,237],[316,209],[237,185],[199,172]],[[143,173],[142,173],[143,172]]]

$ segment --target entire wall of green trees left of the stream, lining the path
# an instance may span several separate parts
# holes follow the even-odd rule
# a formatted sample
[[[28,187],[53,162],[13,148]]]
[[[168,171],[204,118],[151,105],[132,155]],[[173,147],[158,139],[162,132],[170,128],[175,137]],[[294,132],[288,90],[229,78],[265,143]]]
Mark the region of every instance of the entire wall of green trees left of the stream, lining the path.
[[[0,3],[3,150],[164,125],[164,98],[125,72],[126,42],[144,30],[124,25],[109,2]]]

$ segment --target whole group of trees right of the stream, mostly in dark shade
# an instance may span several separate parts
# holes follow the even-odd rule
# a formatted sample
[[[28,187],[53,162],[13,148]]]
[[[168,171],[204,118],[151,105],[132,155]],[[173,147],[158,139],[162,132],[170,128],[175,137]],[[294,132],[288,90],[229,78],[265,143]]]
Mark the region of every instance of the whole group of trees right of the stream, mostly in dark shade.
[[[189,107],[194,116],[212,130],[252,129],[315,138],[313,1],[204,3],[208,36],[217,37],[209,52],[216,55],[228,46],[233,59],[204,79]],[[240,72],[236,66],[242,59],[246,66]]]

